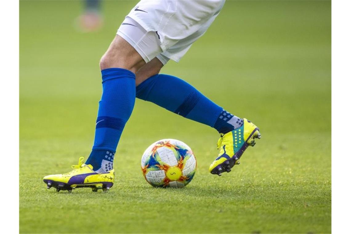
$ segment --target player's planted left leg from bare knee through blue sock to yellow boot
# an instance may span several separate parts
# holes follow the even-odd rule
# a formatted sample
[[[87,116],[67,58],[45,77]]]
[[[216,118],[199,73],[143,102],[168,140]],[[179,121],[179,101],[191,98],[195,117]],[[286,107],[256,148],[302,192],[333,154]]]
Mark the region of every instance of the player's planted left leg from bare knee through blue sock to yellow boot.
[[[73,171],[48,175],[44,182],[48,188],[72,191],[73,188],[91,187],[108,190],[113,185],[113,159],[118,141],[129,119],[135,102],[135,72],[145,64],[139,53],[121,36],[117,35],[100,61],[102,96],[92,152]]]

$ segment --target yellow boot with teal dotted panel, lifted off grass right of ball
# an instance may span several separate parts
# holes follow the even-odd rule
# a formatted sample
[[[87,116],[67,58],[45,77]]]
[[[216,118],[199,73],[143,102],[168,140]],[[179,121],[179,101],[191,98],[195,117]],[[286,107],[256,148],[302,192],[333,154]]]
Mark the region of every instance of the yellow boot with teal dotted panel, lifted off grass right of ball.
[[[239,159],[246,148],[256,144],[255,138],[261,138],[259,129],[247,119],[240,128],[221,134],[217,143],[219,155],[210,165],[210,173],[220,176],[222,172],[230,172],[234,165],[240,163]]]

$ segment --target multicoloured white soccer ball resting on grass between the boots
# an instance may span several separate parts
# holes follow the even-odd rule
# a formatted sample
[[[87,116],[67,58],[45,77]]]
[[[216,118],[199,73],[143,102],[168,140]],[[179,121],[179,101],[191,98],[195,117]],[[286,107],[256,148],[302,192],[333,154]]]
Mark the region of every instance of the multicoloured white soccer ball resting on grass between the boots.
[[[184,142],[163,139],[146,149],[141,158],[141,171],[154,187],[181,188],[193,179],[196,158]]]

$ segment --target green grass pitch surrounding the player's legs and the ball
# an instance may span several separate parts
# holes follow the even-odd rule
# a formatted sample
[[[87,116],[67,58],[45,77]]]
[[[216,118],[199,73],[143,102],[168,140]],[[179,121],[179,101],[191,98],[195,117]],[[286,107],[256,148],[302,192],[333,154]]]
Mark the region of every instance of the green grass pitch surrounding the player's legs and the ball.
[[[75,31],[79,1],[20,2],[21,233],[330,233],[331,2],[227,1],[179,64],[179,76],[262,139],[221,177],[208,173],[218,134],[137,100],[108,193],[47,190],[93,142],[98,62],[136,1],[105,1],[100,32]],[[186,142],[198,171],[184,189],[157,189],[140,159],[152,142]]]

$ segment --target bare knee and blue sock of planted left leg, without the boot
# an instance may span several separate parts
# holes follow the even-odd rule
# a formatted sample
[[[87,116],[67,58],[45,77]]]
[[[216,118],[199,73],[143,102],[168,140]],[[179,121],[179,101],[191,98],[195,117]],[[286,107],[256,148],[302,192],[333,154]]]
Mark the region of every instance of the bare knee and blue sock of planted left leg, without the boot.
[[[134,107],[135,72],[144,64],[139,53],[119,35],[100,60],[102,96],[94,145],[86,161],[96,172],[105,173],[113,168],[118,141]]]

